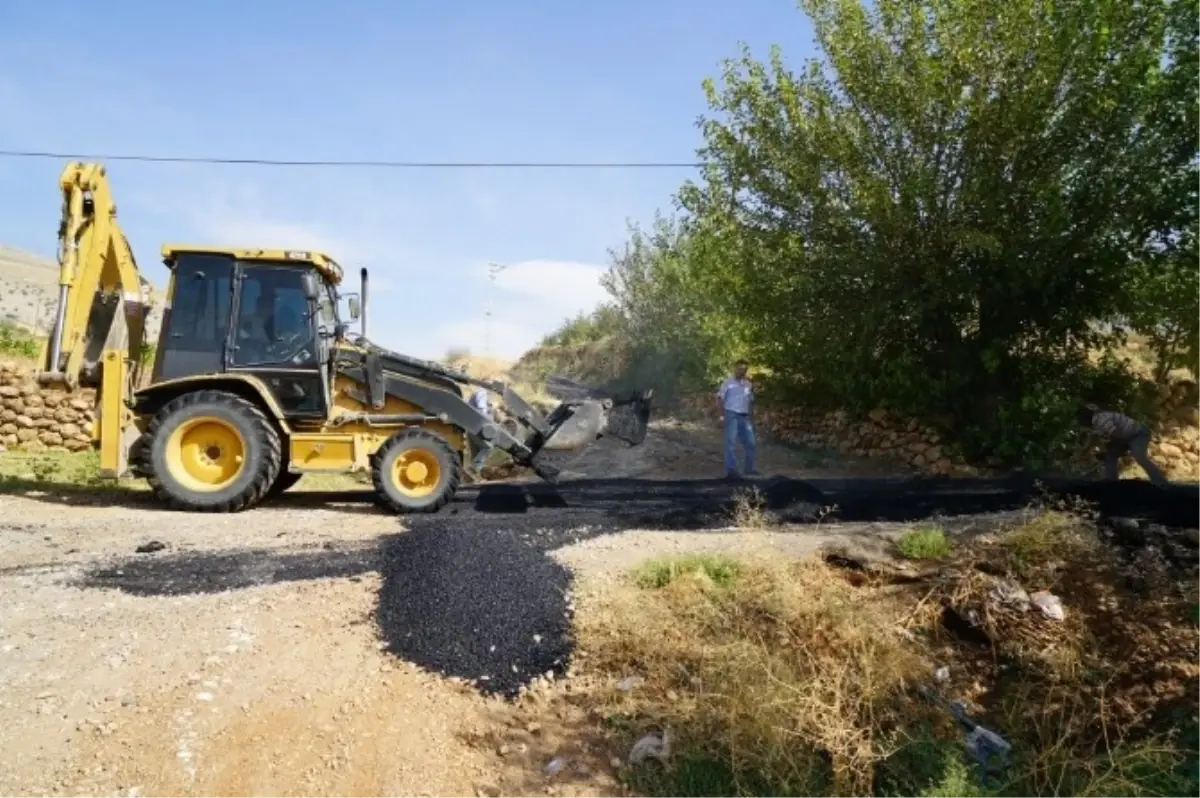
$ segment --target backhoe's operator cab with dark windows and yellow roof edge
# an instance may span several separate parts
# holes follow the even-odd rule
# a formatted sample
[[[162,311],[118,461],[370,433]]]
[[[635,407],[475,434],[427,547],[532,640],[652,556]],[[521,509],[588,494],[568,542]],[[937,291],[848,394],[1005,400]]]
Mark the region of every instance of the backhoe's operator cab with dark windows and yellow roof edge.
[[[172,271],[152,382],[244,373],[290,418],[324,418],[341,268],[310,252],[164,247]]]

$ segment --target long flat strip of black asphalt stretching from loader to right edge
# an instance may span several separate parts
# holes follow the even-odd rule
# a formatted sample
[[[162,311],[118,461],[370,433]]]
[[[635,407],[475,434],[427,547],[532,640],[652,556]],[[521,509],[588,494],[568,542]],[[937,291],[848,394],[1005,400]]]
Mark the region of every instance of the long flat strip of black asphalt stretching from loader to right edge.
[[[1168,527],[1200,526],[1200,487],[1158,488],[1139,480],[1088,482],[1009,479],[770,478],[726,480],[572,480],[559,485],[481,485],[464,488],[443,514],[418,523],[457,528],[482,523],[517,532],[551,528],[551,539],[571,529],[706,529],[727,526],[740,496],[757,488],[763,509],[782,523],[919,521],[931,516],[980,515],[1028,506],[1048,496],[1079,497],[1104,516],[1136,517]],[[826,514],[827,508],[836,508]],[[545,536],[545,535],[544,535]]]

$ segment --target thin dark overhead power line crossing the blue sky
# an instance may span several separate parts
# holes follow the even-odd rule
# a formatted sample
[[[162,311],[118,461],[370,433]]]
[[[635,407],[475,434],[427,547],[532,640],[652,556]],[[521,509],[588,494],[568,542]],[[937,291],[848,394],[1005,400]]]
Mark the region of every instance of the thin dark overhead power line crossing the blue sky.
[[[263,167],[332,167],[377,169],[690,169],[695,162],[570,162],[570,161],[284,161],[276,158],[209,158],[166,155],[100,155],[0,150],[6,158],[54,158],[56,161],[140,161],[144,163],[233,163]]]

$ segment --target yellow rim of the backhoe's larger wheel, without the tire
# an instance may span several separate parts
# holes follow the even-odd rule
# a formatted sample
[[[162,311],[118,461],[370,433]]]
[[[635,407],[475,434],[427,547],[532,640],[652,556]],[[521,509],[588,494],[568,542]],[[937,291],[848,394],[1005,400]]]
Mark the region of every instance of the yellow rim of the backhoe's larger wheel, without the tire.
[[[223,419],[188,419],[170,433],[167,468],[190,491],[220,491],[241,474],[246,463],[246,440]]]

